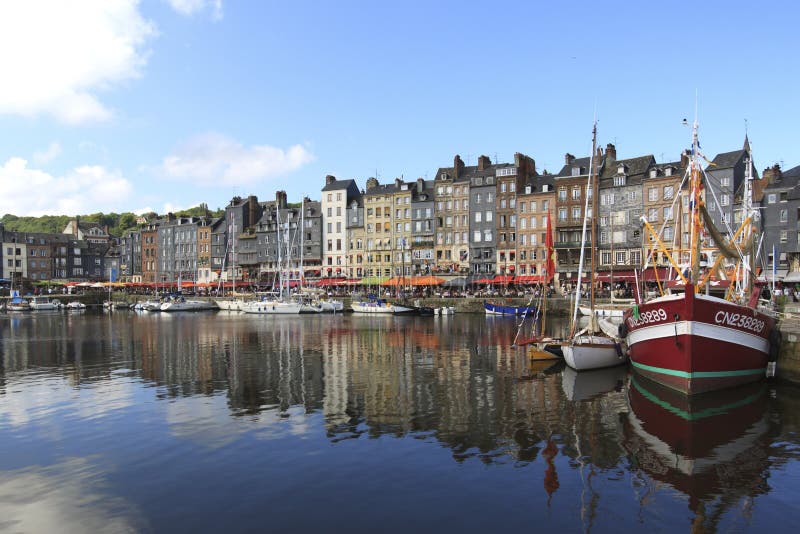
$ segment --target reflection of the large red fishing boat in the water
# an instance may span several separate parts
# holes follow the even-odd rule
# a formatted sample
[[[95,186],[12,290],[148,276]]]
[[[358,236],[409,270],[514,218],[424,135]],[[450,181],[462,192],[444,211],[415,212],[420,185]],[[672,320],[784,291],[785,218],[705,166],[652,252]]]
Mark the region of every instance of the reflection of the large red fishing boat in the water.
[[[766,384],[687,397],[634,374],[626,447],[635,465],[689,497],[693,528],[714,531],[729,508],[752,514],[767,491]]]

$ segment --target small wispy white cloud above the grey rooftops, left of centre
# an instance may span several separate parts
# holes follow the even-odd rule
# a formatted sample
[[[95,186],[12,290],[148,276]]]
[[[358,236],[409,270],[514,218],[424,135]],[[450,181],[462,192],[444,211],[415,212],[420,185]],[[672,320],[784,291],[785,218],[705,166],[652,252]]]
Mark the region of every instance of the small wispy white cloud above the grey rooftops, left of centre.
[[[243,146],[219,134],[190,139],[166,156],[164,175],[202,185],[248,185],[295,171],[314,160],[302,145],[287,149],[269,145]]]

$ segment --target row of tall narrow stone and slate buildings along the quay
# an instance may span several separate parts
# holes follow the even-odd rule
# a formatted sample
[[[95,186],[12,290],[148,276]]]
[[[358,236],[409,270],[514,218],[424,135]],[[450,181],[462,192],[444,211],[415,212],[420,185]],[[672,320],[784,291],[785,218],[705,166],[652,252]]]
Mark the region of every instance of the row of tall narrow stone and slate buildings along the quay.
[[[749,142],[718,154],[706,169],[713,195],[706,205],[717,226],[735,228],[750,161]],[[167,215],[143,221],[119,239],[74,220],[63,234],[4,232],[3,278],[108,279],[174,283],[179,280],[270,282],[291,277],[384,278],[398,275],[473,275],[537,281],[547,262],[548,218],[562,283],[577,276],[584,216],[596,224],[588,249],[598,271],[641,266],[642,217],[682,253],[689,243],[689,156],[659,163],[652,155],[618,159],[608,144],[594,157],[566,154],[561,170],[538,172],[521,153],[512,162],[478,158],[439,168],[432,180],[380,183],[326,176],[319,200],[289,203],[235,197],[222,217]],[[588,186],[595,167],[597,192]],[[800,167],[766,169],[754,176],[758,222],[768,265],[796,267],[800,253]],[[588,213],[587,209],[588,195]],[[596,198],[595,196],[596,195]],[[710,237],[706,246],[713,247]],[[773,249],[780,255],[773,259]],[[688,254],[688,250],[686,251]],[[587,260],[588,261],[588,260]],[[659,265],[668,265],[657,255]]]

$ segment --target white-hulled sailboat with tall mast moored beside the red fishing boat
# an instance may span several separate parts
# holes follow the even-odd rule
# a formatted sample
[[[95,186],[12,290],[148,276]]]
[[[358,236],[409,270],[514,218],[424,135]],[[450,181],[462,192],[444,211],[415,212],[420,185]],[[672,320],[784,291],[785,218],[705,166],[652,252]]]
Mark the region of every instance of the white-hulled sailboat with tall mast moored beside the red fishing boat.
[[[602,367],[612,367],[621,365],[627,361],[627,355],[622,349],[621,340],[601,331],[597,326],[597,317],[594,313],[594,283],[589,283],[590,293],[590,314],[589,326],[577,331],[578,311],[581,300],[581,282],[583,279],[583,264],[586,252],[586,223],[589,212],[589,191],[592,192],[592,204],[596,204],[597,198],[597,172],[595,169],[597,151],[597,123],[592,128],[592,154],[589,158],[589,177],[586,183],[586,204],[584,206],[583,231],[581,235],[581,256],[578,262],[578,283],[575,289],[575,308],[572,315],[572,330],[570,338],[562,343],[561,350],[564,353],[564,361],[576,371],[586,369],[599,369]],[[596,213],[596,206],[593,206],[592,215]],[[594,217],[592,217],[592,245],[595,243]],[[596,251],[592,250],[592,276],[594,275],[594,260]]]

